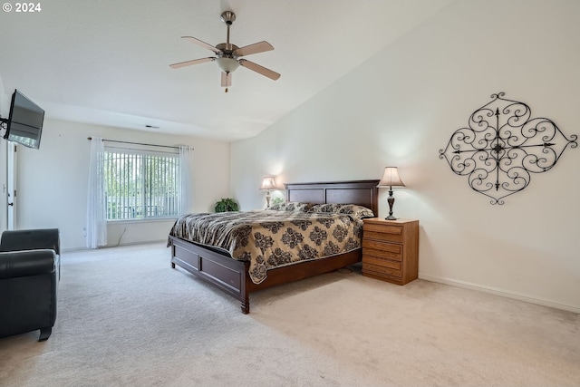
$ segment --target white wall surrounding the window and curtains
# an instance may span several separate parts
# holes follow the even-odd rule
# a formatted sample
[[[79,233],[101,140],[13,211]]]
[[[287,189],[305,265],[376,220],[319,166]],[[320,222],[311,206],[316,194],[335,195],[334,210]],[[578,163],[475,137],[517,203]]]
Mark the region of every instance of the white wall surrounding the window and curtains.
[[[194,148],[193,209],[212,211],[215,202],[228,195],[229,144],[226,142],[46,119],[40,149],[18,147],[18,228],[58,227],[64,249],[85,247],[83,227],[86,227],[91,151],[87,137],[90,136],[189,145]],[[173,220],[110,223],[108,245],[166,240],[172,225]]]

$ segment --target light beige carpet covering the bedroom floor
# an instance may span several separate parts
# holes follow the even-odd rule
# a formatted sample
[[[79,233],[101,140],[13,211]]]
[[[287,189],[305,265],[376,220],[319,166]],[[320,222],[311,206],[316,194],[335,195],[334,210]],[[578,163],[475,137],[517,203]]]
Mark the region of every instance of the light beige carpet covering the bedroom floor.
[[[2,386],[578,386],[580,315],[357,267],[250,296],[163,244],[66,252],[58,315],[0,339]]]

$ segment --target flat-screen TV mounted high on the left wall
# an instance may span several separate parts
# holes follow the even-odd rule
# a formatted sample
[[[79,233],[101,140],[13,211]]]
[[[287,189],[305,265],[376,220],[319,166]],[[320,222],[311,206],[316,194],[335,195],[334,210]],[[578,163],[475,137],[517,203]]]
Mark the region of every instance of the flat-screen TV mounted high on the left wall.
[[[26,98],[22,92],[14,90],[4,138],[25,147],[38,149],[43,121],[43,109]]]

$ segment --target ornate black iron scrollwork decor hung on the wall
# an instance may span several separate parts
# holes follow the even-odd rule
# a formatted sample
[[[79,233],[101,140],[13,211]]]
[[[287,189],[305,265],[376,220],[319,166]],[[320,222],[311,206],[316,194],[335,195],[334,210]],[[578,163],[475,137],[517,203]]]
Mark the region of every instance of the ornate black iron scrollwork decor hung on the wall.
[[[532,173],[546,172],[556,165],[564,150],[578,146],[578,136],[567,138],[554,121],[531,118],[524,102],[492,94],[492,101],[469,117],[469,127],[453,133],[439,158],[451,170],[468,176],[469,186],[504,204],[504,198],[525,189]]]

